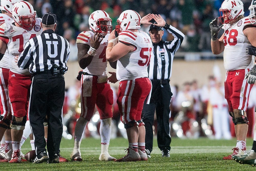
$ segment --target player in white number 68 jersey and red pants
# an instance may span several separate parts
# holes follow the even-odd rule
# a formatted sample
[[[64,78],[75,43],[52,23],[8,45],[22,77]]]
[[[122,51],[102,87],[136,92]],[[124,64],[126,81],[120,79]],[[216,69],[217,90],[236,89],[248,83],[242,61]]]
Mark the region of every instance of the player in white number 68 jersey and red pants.
[[[220,22],[217,18],[210,23],[211,49],[213,54],[224,51],[224,68],[226,72],[225,98],[227,99],[230,116],[236,132],[237,143],[233,153],[223,157],[232,159],[234,155],[245,155],[246,134],[249,121],[246,117],[248,99],[253,84],[244,79],[253,67],[254,56],[246,53],[246,46],[256,46],[256,28],[249,17],[244,17],[243,3],[240,0],[225,0],[220,9]],[[218,39],[218,32],[223,28],[224,33]]]

